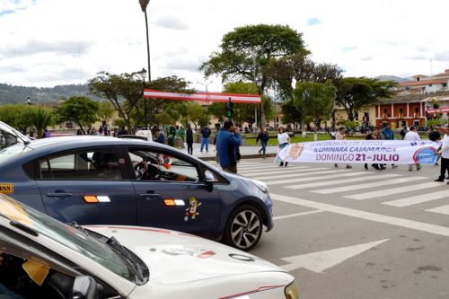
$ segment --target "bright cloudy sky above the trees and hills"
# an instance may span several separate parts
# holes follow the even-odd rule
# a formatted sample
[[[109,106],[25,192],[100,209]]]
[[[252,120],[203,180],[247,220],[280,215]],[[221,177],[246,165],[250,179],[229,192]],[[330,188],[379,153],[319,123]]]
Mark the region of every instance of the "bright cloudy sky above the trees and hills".
[[[430,75],[449,68],[447,0],[151,0],[151,72],[208,84],[198,66],[247,24],[302,32],[317,62],[345,76]],[[0,0],[0,83],[84,84],[147,68],[138,0]],[[220,80],[209,84],[219,91]]]

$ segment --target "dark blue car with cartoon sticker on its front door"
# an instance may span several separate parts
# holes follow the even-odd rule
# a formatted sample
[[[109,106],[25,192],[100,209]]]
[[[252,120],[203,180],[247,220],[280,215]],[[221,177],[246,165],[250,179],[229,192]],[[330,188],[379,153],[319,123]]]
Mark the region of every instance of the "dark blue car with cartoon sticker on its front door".
[[[25,137],[26,138],[26,137]],[[59,221],[155,226],[249,251],[273,227],[267,186],[170,146],[108,136],[18,137],[0,192]]]

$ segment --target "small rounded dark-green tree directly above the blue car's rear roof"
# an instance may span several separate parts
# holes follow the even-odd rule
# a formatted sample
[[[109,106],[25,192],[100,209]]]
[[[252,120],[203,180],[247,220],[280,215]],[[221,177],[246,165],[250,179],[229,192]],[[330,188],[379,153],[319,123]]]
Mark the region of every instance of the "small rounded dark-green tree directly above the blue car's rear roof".
[[[58,121],[74,121],[83,131],[98,120],[99,104],[84,96],[72,96],[57,108]]]

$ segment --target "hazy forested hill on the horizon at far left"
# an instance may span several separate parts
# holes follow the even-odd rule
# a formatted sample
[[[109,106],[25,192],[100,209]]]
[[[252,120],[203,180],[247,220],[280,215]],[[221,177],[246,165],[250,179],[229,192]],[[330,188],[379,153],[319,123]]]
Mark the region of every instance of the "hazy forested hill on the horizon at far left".
[[[69,98],[73,95],[85,95],[91,100],[100,101],[92,96],[86,84],[57,85],[55,87],[26,87],[10,84],[0,84],[0,104],[25,103],[30,97],[32,103],[54,103],[61,98]]]

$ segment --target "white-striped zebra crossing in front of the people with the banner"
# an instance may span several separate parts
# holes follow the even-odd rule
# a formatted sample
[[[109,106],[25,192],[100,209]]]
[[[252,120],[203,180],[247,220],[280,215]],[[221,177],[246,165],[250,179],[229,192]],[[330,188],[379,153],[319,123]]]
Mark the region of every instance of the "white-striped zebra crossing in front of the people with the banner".
[[[210,164],[220,168],[215,162]],[[372,200],[392,208],[420,207],[427,213],[449,215],[449,186],[435,182],[431,177],[410,176],[409,171],[401,169],[385,173],[336,169],[326,164],[313,167],[292,163],[288,167],[279,167],[275,163],[255,160],[239,163],[238,172],[245,177],[262,180],[269,187],[301,190],[302,198],[306,198],[307,193],[315,194],[315,198],[321,194],[324,200],[336,197],[354,201]],[[424,204],[427,205],[425,209],[420,206]],[[427,208],[429,205],[436,207]]]

